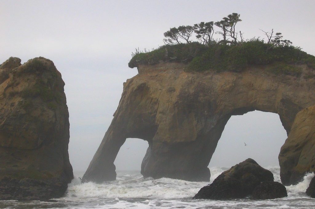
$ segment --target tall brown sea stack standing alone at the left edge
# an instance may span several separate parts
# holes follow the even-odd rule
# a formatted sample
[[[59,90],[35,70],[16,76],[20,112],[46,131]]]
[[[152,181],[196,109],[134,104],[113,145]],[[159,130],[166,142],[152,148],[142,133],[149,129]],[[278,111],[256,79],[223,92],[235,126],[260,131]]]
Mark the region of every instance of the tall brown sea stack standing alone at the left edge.
[[[0,69],[0,200],[62,196],[73,178],[61,74],[43,57]]]

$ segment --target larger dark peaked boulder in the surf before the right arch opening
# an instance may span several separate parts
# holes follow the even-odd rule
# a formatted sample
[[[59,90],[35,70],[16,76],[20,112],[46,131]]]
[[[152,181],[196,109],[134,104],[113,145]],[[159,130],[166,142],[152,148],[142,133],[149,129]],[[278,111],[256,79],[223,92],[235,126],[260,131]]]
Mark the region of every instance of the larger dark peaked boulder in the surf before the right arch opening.
[[[221,173],[209,186],[201,188],[194,199],[244,198],[265,181],[273,181],[272,172],[249,158]]]

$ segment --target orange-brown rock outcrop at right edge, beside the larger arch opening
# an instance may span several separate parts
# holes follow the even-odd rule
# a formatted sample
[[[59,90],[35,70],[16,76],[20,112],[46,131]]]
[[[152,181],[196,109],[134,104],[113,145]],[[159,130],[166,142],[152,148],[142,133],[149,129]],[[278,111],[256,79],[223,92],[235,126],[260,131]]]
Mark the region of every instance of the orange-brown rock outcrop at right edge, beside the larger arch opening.
[[[296,184],[315,171],[315,106],[301,110],[279,154],[281,181]]]

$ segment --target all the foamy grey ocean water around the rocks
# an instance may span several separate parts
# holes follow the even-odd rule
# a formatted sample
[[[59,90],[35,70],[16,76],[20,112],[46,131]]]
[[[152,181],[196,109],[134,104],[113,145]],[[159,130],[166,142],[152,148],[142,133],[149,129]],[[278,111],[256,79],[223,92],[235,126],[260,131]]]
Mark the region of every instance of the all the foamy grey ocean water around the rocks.
[[[221,172],[228,168],[210,168],[212,182]],[[280,169],[267,167],[280,182]],[[83,172],[75,173],[75,178],[68,185],[66,196],[44,201],[0,201],[0,208],[108,208],[108,209],[167,209],[167,208],[315,208],[315,199],[308,197],[305,191],[313,178],[310,173],[304,180],[294,186],[287,186],[288,197],[274,200],[254,201],[238,199],[228,201],[192,200],[200,188],[209,182],[189,182],[171,178],[144,179],[140,172],[117,172],[116,181],[103,184],[81,184],[79,177]]]

